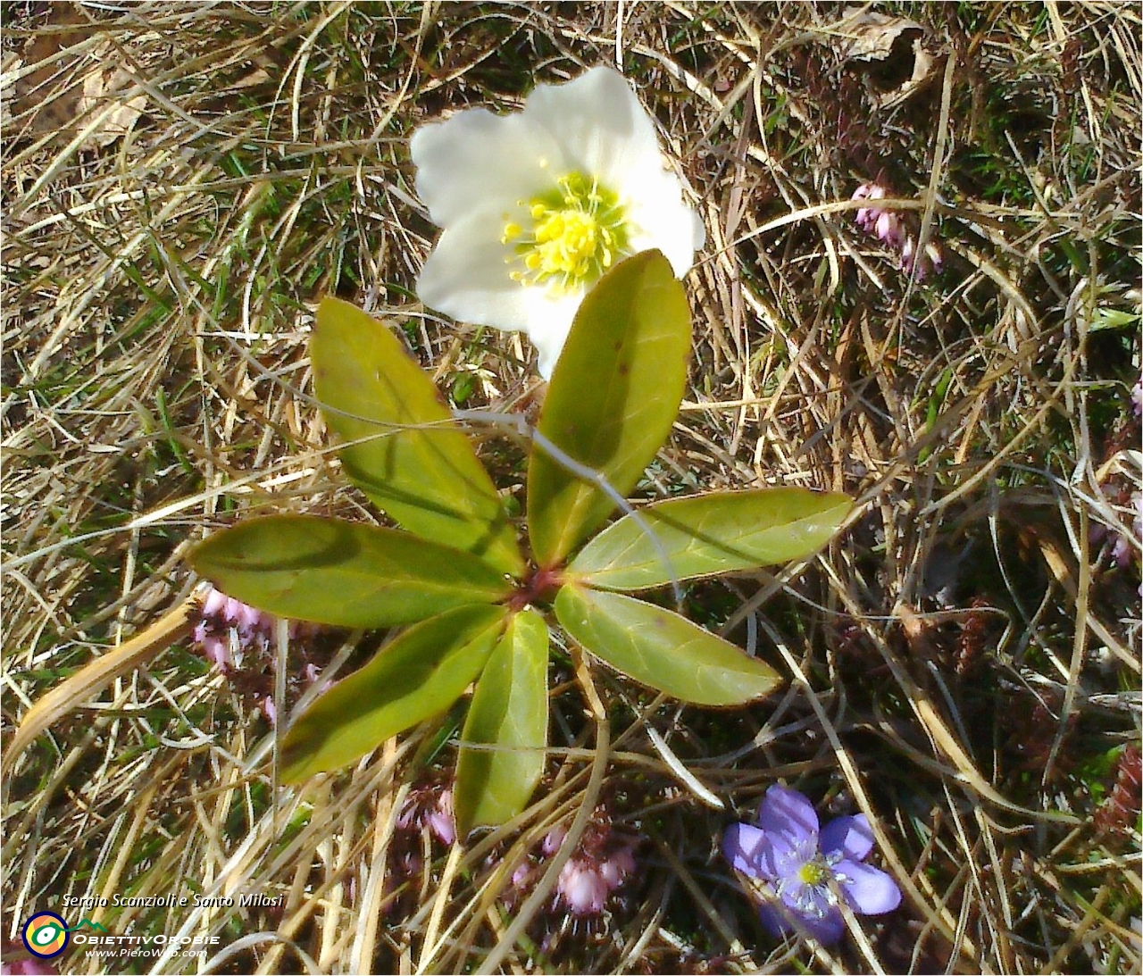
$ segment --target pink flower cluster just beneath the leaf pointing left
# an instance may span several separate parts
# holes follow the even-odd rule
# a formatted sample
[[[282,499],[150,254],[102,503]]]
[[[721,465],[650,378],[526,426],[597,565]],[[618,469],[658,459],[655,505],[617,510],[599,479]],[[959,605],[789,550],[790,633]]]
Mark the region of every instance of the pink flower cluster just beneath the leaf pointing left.
[[[274,634],[278,618],[213,586],[202,598],[199,614],[191,632],[192,641],[231,679],[241,695],[251,697],[266,719],[275,721],[278,709],[273,688],[278,654]],[[290,621],[288,656],[297,673],[287,679],[287,697],[297,697],[302,688],[318,680],[317,658],[323,656],[315,641],[320,635],[318,625]]]

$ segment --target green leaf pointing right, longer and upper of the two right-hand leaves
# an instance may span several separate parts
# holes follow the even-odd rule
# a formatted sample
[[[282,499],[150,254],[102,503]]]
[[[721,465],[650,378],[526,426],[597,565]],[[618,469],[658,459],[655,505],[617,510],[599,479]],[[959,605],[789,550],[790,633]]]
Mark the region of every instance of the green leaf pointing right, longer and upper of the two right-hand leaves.
[[[825,545],[853,507],[846,495],[805,488],[717,491],[657,502],[625,515],[572,560],[568,576],[605,590],[647,590],[676,579],[802,559]],[[663,554],[670,565],[663,562]]]

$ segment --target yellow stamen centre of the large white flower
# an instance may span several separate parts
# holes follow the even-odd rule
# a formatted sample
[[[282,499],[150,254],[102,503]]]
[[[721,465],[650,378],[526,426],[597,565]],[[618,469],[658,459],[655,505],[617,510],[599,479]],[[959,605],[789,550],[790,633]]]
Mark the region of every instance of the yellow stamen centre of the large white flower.
[[[628,253],[623,205],[582,173],[569,173],[533,197],[528,214],[530,227],[507,221],[501,235],[501,243],[512,245],[507,263],[522,265],[509,272],[521,285],[544,285],[563,295],[590,285]]]

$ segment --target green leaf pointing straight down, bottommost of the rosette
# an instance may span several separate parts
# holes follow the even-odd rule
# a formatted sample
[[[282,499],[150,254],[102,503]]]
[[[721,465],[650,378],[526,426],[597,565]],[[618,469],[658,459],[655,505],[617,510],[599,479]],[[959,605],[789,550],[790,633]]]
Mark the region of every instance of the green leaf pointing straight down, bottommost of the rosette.
[[[461,837],[480,824],[519,814],[544,771],[547,744],[547,627],[535,610],[509,624],[485,666],[469,706],[456,765],[456,825]]]

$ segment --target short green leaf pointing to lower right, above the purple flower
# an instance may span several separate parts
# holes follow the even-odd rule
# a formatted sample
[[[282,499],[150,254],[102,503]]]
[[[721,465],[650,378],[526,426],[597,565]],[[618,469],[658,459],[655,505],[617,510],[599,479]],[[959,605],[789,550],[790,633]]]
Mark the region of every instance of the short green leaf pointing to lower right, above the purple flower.
[[[741,705],[780,678],[761,661],[662,607],[569,585],[555,616],[584,650],[642,685],[696,705]]]

